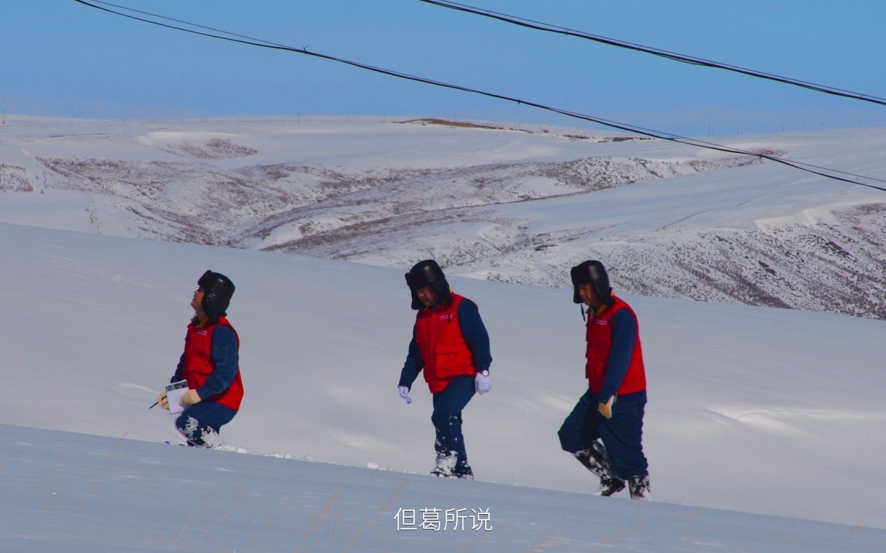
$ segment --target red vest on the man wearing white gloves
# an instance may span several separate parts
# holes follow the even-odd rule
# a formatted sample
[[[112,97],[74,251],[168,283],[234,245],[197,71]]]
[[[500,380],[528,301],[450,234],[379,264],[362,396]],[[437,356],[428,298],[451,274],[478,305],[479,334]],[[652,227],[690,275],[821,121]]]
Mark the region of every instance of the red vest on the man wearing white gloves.
[[[424,380],[431,394],[445,390],[455,377],[477,374],[474,356],[458,321],[458,306],[463,300],[453,294],[451,303],[424,309],[416,317],[416,342],[422,350]]]

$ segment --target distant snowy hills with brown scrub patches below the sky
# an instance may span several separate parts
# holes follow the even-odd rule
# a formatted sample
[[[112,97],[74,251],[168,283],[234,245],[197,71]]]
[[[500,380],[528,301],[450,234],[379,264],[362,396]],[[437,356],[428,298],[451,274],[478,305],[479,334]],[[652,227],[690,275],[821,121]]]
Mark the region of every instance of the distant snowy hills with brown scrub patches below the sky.
[[[886,196],[669,142],[377,118],[0,129],[0,221],[886,319]],[[547,131],[547,132],[546,132]],[[723,139],[886,178],[883,129]]]

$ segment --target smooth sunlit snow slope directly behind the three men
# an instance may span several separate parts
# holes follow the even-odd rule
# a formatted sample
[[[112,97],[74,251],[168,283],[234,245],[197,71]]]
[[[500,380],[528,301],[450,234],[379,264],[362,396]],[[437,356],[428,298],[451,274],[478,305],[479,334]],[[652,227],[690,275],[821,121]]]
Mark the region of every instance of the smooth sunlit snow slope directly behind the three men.
[[[0,254],[2,424],[175,440],[167,413],[147,407],[212,268],[237,283],[229,314],[246,397],[223,429],[230,443],[431,468],[431,396],[421,381],[411,405],[396,393],[414,320],[400,270],[5,224]],[[452,284],[477,301],[492,339],[494,390],[464,413],[478,480],[592,491],[556,436],[586,386],[571,292]],[[657,501],[886,527],[886,322],[626,298],[647,359]]]

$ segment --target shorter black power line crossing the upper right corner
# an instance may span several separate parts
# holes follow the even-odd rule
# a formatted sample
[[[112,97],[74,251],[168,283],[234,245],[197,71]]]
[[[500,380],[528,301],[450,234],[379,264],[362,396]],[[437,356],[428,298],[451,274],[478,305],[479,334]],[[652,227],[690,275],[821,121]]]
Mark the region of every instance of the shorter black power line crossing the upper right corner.
[[[449,8],[450,10],[455,10],[457,12],[466,12],[472,13],[475,15],[481,15],[490,19],[498,19],[500,21],[504,21],[505,23],[510,23],[513,25],[518,25],[520,27],[527,27],[531,29],[536,29],[539,31],[545,31],[547,33],[556,33],[558,35],[569,35],[575,36],[577,38],[583,38],[589,41],[601,42],[602,44],[609,44],[610,46],[617,46],[618,48],[625,48],[627,50],[636,50],[639,52],[643,52],[646,54],[652,54],[654,56],[659,56],[661,58],[672,59],[674,61],[679,61],[685,64],[690,65],[702,65],[704,67],[712,67],[715,69],[725,69],[726,71],[732,71],[734,73],[742,73],[745,75],[750,75],[751,77],[758,77],[759,79],[767,79],[769,81],[777,81],[783,82],[785,84],[793,85],[795,87],[800,88],[808,88],[810,90],[815,90],[817,92],[823,92],[825,94],[830,94],[833,96],[843,96],[846,98],[852,98],[854,100],[862,100],[864,102],[870,102],[872,104],[880,104],[886,105],[886,98],[881,98],[879,96],[871,96],[867,94],[861,94],[860,92],[851,92],[850,90],[843,90],[843,88],[835,88],[830,87],[828,85],[817,84],[809,81],[800,81],[799,79],[792,79],[790,77],[785,77],[782,75],[776,75],[773,73],[765,73],[762,71],[756,71],[754,69],[748,69],[747,67],[741,67],[738,65],[729,65],[723,64],[716,61],[711,61],[710,59],[704,58],[696,58],[695,56],[688,56],[686,54],[679,54],[677,52],[671,52],[668,50],[660,50],[657,48],[653,48],[651,46],[643,46],[642,44],[635,44],[633,42],[625,42],[619,41],[614,38],[607,38],[605,36],[600,35],[592,35],[590,33],[585,33],[583,31],[576,31],[575,29],[560,27],[557,25],[552,25],[550,23],[543,23],[541,21],[535,21],[533,19],[525,19],[521,17],[517,17],[516,15],[508,15],[507,13],[501,12],[493,12],[492,10],[486,10],[485,8],[478,8],[474,6],[470,6],[468,4],[459,4],[457,2],[448,2],[446,0],[418,0],[419,2],[424,2],[425,4],[433,4],[443,8]]]

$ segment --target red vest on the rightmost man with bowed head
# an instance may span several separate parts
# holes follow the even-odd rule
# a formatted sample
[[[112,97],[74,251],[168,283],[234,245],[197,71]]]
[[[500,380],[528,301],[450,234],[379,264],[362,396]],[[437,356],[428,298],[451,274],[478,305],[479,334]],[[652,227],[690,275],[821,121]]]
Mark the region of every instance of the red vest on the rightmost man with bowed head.
[[[587,365],[585,376],[587,385],[595,394],[599,394],[603,388],[603,380],[606,380],[606,372],[609,370],[609,357],[612,351],[612,319],[618,311],[633,309],[627,303],[616,296],[612,296],[615,303],[603,311],[601,315],[594,315],[587,319]],[[637,326],[637,339],[633,344],[633,356],[631,365],[627,368],[625,380],[618,388],[618,395],[633,394],[646,389],[646,370],[643,368],[643,351],[640,345],[640,326]]]

